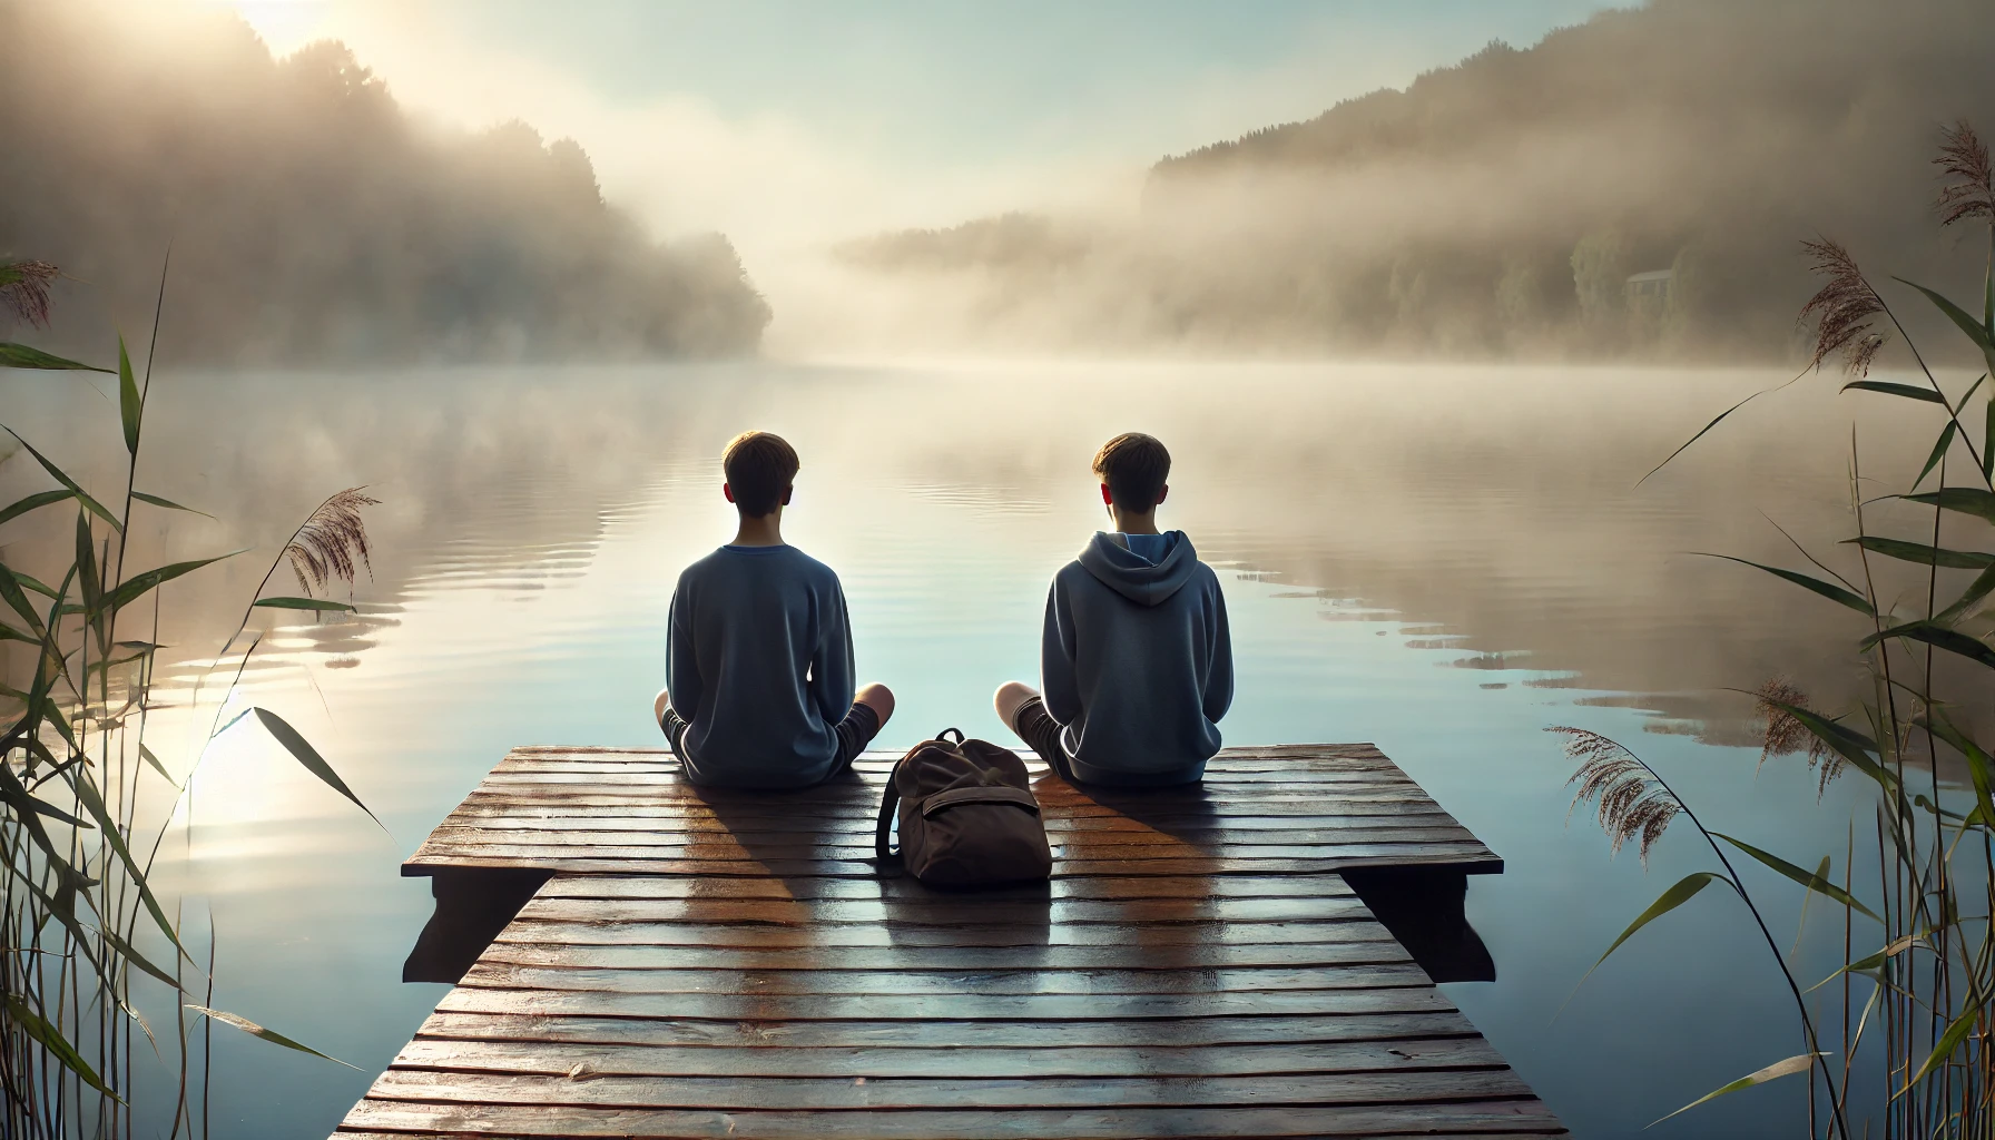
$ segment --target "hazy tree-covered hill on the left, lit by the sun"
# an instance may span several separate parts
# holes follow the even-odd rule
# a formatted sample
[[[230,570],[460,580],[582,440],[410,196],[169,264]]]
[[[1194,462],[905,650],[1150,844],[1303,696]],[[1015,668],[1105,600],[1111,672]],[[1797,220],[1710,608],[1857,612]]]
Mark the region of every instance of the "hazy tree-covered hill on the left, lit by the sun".
[[[178,361],[722,355],[768,323],[726,238],[656,244],[575,142],[419,124],[339,44],[98,0],[0,0],[0,256],[88,282],[66,343],[144,335],[170,242]]]

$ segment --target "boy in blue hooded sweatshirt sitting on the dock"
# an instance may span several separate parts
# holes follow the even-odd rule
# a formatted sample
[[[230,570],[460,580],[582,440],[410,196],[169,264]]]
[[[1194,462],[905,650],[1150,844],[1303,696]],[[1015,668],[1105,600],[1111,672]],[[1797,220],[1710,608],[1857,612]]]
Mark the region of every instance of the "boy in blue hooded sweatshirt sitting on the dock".
[[[998,689],[998,717],[1061,777],[1189,785],[1219,751],[1233,703],[1233,639],[1219,575],[1183,531],[1157,533],[1171,453],[1125,433],[1095,455],[1113,531],[1053,575],[1039,643],[1045,693]]]

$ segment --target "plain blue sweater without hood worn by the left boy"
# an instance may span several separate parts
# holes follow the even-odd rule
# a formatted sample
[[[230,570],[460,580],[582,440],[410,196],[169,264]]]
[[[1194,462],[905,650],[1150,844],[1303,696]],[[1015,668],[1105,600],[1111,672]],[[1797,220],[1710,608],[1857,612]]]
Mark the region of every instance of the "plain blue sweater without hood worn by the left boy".
[[[852,709],[846,591],[796,547],[720,547],[672,591],[666,693],[690,721],[694,783],[794,789],[822,781]]]

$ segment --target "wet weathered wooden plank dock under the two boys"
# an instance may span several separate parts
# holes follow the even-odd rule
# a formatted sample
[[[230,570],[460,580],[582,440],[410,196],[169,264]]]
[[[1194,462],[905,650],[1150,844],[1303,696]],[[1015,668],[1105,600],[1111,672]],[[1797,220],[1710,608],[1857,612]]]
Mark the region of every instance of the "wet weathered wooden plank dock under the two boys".
[[[1053,880],[982,894],[876,866],[892,759],[513,751],[403,872],[551,876],[337,1136],[1564,1134],[1341,874],[1502,868],[1371,745],[1039,775]]]

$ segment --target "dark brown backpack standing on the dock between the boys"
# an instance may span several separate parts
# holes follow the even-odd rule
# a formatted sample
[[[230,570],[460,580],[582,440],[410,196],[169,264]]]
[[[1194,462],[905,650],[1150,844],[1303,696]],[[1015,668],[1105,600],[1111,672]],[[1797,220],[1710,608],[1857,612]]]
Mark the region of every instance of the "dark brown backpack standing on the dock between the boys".
[[[950,733],[956,741],[950,743]],[[990,741],[944,729],[902,757],[880,799],[874,851],[900,855],[928,886],[974,888],[1035,882],[1053,872],[1039,801],[1025,761]],[[900,849],[888,845],[900,809]]]

